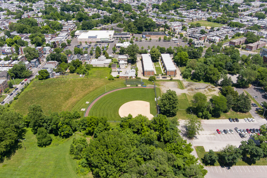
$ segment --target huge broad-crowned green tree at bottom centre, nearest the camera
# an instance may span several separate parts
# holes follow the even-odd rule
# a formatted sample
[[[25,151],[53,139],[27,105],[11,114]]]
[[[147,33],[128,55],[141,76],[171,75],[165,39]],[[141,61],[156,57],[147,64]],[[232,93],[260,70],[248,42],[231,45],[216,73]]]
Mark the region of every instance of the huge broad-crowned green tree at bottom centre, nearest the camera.
[[[100,133],[84,151],[84,158],[97,177],[119,177],[129,170],[133,157],[128,137],[117,130]]]

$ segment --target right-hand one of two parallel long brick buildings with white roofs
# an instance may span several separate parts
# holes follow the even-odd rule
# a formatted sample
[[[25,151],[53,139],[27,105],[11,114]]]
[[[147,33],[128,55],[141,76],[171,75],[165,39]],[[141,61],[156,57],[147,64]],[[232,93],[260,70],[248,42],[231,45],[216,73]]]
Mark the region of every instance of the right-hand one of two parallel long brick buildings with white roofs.
[[[163,71],[167,76],[173,76],[175,77],[177,72],[176,68],[173,64],[172,59],[170,58],[170,54],[161,54],[161,60],[160,60]]]

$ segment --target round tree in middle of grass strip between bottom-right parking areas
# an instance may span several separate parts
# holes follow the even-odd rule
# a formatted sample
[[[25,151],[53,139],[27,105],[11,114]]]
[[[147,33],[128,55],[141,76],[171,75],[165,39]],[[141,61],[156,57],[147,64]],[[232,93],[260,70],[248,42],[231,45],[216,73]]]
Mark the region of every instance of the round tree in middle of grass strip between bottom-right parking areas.
[[[235,165],[241,156],[239,149],[231,144],[227,144],[220,151],[219,160],[226,166]]]

